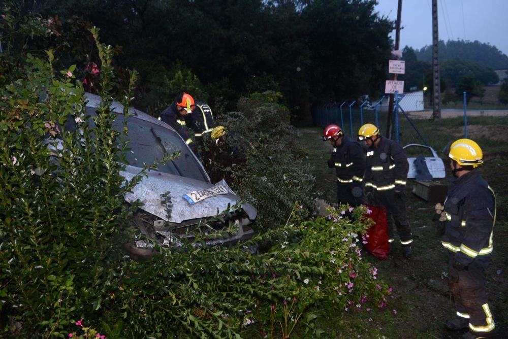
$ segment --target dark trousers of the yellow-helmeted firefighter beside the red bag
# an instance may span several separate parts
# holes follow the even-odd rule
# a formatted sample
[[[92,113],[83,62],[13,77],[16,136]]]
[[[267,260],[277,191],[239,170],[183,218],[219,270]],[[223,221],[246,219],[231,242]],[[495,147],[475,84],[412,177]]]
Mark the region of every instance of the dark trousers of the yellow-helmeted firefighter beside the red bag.
[[[388,238],[393,241],[394,229],[397,226],[397,233],[401,242],[408,242],[412,240],[411,227],[407,220],[406,212],[406,194],[405,192],[396,193],[394,189],[386,191],[373,190],[373,203],[375,205],[382,205],[386,207],[386,220],[388,225]],[[392,220],[393,218],[393,220]]]

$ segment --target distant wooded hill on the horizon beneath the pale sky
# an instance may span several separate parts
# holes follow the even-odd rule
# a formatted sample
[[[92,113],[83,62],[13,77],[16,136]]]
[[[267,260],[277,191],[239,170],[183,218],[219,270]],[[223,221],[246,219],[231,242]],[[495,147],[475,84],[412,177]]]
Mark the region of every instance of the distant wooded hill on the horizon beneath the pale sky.
[[[418,60],[431,61],[432,46],[424,46],[415,50]],[[476,62],[493,70],[508,69],[508,56],[495,46],[479,41],[449,40],[439,41],[439,60],[462,59]]]

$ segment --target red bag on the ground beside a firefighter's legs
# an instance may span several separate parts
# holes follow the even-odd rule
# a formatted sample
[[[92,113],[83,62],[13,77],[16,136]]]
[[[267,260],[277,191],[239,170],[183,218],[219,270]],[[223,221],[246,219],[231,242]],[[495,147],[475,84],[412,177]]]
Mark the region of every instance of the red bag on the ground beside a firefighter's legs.
[[[367,241],[365,249],[373,256],[379,259],[385,259],[390,253],[385,207],[372,206],[370,204],[365,204],[365,206],[370,211],[370,213],[367,213],[365,217],[374,221],[374,224],[367,229],[365,235]]]

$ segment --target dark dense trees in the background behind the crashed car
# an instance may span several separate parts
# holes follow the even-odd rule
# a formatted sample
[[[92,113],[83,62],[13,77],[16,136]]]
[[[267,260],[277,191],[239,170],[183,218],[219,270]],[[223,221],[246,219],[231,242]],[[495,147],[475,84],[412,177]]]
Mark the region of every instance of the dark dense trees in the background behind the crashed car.
[[[219,109],[233,109],[242,94],[280,91],[295,121],[304,119],[313,103],[356,97],[382,85],[393,45],[389,38],[393,22],[374,11],[375,3],[6,2],[20,17],[31,13],[58,19],[68,45],[62,44],[61,51],[67,50],[67,61],[78,68],[97,62],[86,30],[99,27],[102,40],[115,47],[117,65],[139,72],[134,104],[152,114],[172,100],[176,93],[168,91],[170,82],[182,72],[182,78],[200,87],[200,99]]]

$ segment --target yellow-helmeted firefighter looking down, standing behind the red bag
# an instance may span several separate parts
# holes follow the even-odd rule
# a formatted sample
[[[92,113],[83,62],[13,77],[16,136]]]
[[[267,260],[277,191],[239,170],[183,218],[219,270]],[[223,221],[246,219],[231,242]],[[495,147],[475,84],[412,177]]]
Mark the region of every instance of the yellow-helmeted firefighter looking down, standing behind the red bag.
[[[386,207],[388,237],[394,241],[393,220],[397,227],[402,254],[412,255],[412,234],[406,211],[406,179],[409,171],[407,157],[395,141],[384,138],[373,124],[365,124],[358,131],[358,139],[367,146],[365,192],[375,205]]]

